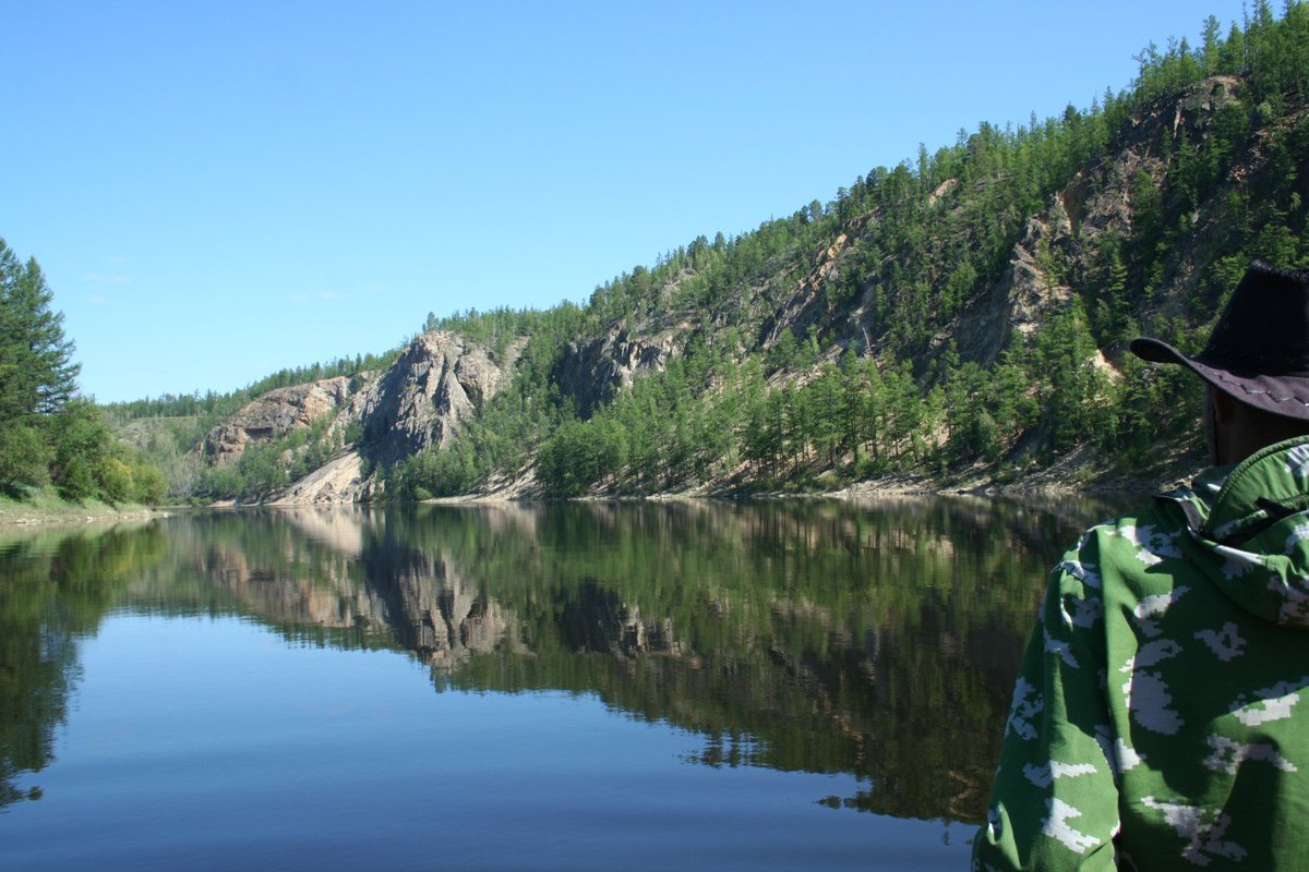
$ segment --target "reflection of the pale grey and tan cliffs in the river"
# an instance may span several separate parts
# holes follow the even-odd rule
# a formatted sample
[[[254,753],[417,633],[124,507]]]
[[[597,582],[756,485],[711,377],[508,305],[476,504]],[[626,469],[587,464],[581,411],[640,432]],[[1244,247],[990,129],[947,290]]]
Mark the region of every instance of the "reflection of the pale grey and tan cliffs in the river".
[[[178,518],[173,565],[134,586],[134,605],[236,612],[298,642],[401,648],[433,664],[505,647],[496,603],[440,553],[394,541],[391,516],[334,507]]]

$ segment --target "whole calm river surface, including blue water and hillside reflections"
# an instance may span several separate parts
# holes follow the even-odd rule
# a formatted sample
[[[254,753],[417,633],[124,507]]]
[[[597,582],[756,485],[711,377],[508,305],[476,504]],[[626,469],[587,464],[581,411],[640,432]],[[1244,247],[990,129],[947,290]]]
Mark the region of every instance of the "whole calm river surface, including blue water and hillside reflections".
[[[959,869],[1050,562],[974,499],[0,540],[0,868]]]

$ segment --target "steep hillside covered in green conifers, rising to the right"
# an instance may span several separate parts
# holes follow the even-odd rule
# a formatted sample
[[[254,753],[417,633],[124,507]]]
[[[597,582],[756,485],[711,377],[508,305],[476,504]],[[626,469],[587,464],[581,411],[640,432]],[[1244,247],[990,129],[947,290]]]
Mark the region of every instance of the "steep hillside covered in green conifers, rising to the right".
[[[585,306],[429,315],[424,331],[482,349],[504,386],[399,458],[368,403],[343,405],[356,426],[325,425],[314,438],[335,442],[314,456],[353,454],[370,498],[391,499],[1011,481],[1072,452],[1088,471],[1157,469],[1164,446],[1198,447],[1199,392],[1127,341],[1195,350],[1250,260],[1309,265],[1309,9],[1257,3],[1139,60],[1089,107],[961,129]],[[258,471],[229,459],[182,495],[278,495],[306,437],[266,444],[247,452]]]

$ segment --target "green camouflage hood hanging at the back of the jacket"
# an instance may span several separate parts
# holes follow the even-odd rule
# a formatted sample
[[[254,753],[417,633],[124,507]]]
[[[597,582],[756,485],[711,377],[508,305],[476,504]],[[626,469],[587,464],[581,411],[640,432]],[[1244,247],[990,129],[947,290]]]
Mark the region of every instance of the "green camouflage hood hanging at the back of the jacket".
[[[1212,557],[1202,571],[1224,594],[1267,621],[1309,629],[1309,439],[1279,442],[1228,469],[1164,499],[1181,505],[1192,540]]]

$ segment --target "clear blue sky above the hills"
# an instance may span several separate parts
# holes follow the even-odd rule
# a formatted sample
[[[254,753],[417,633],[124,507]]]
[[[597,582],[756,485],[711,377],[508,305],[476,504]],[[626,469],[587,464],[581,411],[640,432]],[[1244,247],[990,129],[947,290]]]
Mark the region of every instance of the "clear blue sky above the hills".
[[[1279,7],[1280,8],[1280,7]],[[1240,0],[0,0],[0,238],[101,401],[585,301],[979,122],[1131,84]]]

